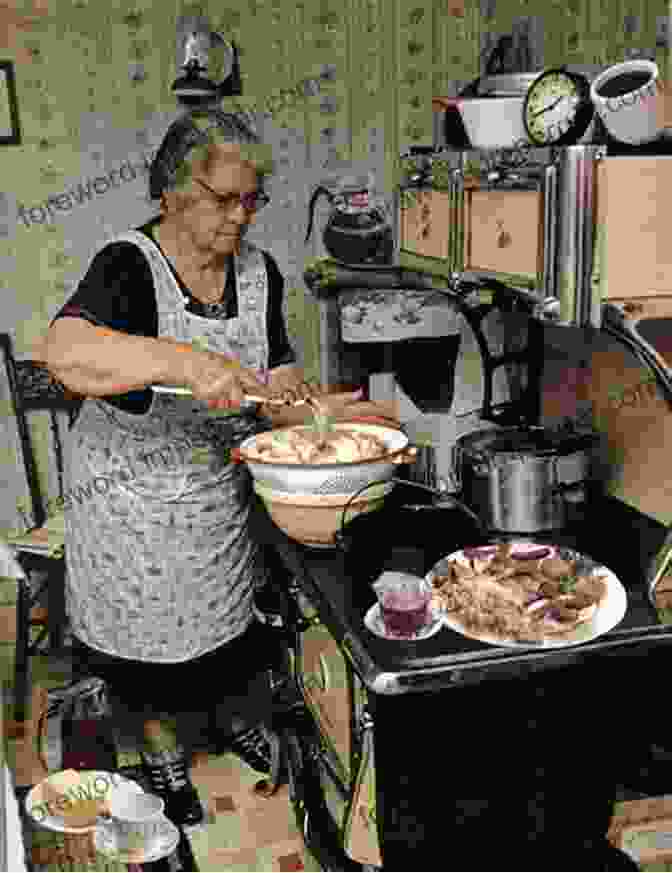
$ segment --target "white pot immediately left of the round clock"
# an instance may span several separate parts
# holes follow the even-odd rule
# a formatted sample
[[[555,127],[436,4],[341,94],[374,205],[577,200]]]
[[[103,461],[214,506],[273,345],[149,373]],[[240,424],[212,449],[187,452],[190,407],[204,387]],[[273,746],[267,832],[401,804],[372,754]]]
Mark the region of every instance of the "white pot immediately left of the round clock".
[[[473,148],[502,149],[529,143],[524,103],[524,97],[491,97],[458,100],[456,105]]]

